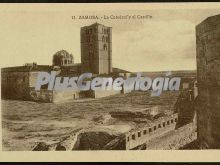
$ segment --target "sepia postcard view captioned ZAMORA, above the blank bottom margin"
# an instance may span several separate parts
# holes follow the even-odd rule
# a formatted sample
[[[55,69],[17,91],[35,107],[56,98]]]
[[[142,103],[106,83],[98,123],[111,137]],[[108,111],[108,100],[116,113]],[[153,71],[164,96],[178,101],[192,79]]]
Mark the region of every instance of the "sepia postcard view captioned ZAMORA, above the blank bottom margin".
[[[0,5],[2,151],[220,149],[220,4],[90,6]]]

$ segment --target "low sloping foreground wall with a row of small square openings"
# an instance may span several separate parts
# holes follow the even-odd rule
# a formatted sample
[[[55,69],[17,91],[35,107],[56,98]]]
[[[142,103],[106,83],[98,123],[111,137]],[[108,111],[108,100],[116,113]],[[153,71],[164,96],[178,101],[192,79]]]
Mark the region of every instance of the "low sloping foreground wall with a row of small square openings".
[[[161,119],[152,123],[151,126],[128,132],[126,137],[126,150],[133,149],[139,145],[150,142],[150,140],[159,137],[176,128],[178,115],[173,114],[168,118]]]

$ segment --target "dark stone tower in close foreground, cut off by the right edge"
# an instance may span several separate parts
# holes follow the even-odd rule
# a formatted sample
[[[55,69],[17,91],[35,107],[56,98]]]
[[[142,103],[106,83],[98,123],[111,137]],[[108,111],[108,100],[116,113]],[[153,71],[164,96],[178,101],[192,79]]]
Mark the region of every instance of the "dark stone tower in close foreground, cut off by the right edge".
[[[200,148],[220,149],[220,15],[197,25],[196,58],[198,141]]]

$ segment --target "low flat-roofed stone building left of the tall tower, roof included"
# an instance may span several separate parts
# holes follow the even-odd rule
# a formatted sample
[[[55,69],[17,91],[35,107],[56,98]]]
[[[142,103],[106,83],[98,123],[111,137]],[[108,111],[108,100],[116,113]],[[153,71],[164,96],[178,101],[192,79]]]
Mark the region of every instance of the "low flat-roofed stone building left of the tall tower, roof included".
[[[62,75],[60,68],[49,65],[24,65],[1,69],[1,96],[3,99],[31,100],[38,102],[61,102],[68,99],[77,99],[80,97],[78,91],[54,91],[48,90],[44,85],[41,90],[36,91],[35,85],[38,72],[56,71]],[[71,75],[71,72],[69,72]]]

